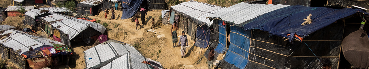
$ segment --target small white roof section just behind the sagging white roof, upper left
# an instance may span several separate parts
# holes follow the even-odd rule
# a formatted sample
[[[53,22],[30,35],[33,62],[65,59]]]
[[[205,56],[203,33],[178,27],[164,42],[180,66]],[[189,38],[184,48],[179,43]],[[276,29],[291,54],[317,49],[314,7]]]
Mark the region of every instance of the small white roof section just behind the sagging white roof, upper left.
[[[41,19],[44,19],[46,22],[51,22],[51,21],[56,21],[56,20],[59,20],[59,19],[65,20],[65,19],[68,19],[68,18],[72,18],[72,17],[68,17],[68,16],[65,16],[65,15],[62,15],[62,14],[55,13],[55,14],[52,14],[52,15],[48,15],[46,17],[42,17]]]

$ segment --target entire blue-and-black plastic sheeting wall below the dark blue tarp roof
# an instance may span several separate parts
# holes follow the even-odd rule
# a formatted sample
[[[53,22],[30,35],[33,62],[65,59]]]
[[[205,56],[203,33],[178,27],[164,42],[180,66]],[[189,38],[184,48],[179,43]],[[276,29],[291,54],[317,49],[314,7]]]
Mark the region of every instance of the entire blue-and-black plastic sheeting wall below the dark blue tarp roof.
[[[294,41],[294,44],[290,44],[282,37],[270,35],[268,32],[248,31],[231,26],[231,44],[223,60],[226,62],[221,62],[219,67],[222,69],[234,69],[233,66],[240,69],[320,69],[322,66],[320,61],[328,59],[335,69],[338,67],[342,31],[342,25],[332,24],[311,33],[302,42]],[[247,37],[252,39],[251,44],[248,44],[250,39]],[[247,52],[248,49],[250,54]]]

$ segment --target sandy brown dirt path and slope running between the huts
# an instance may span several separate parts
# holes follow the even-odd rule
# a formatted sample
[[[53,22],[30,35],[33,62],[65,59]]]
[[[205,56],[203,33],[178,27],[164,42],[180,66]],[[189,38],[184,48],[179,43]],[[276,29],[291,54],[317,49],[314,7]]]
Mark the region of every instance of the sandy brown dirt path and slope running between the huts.
[[[104,12],[100,14],[104,14]],[[146,30],[149,30],[152,26],[151,19],[153,17],[155,17],[155,20],[161,18],[161,10],[147,12],[145,18],[147,24],[144,24],[144,28],[138,30],[135,28],[135,22],[131,22],[130,19],[120,19],[122,14],[121,11],[115,11],[115,14],[115,17],[118,18],[108,21],[105,21],[104,15],[91,16],[90,18],[101,20],[101,23],[108,23],[108,28],[110,29],[108,31],[108,38],[134,45],[145,57],[161,62],[164,68],[199,69],[201,62],[201,69],[207,69],[206,58],[202,56],[206,49],[194,46],[193,42],[189,42],[190,47],[187,48],[187,55],[184,58],[180,58],[180,47],[172,47],[172,37],[170,36],[171,25],[156,27],[156,34],[154,32],[146,32]],[[110,19],[109,16],[111,16],[111,14],[108,14],[108,19]],[[140,21],[141,18],[138,18],[138,20]],[[139,23],[142,25],[141,21]],[[178,36],[180,32],[182,32],[179,31],[180,30],[177,30]],[[158,39],[157,35],[159,34],[164,34],[165,37]],[[200,53],[200,50],[203,50],[202,53]],[[202,60],[198,62],[199,59]],[[78,60],[80,59],[77,59],[77,61]]]

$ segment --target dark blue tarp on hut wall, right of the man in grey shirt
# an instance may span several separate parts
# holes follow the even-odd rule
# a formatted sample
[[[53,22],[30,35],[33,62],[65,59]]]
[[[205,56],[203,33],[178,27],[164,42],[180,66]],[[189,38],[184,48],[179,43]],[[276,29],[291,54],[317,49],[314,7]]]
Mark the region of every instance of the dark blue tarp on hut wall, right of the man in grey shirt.
[[[199,26],[196,29],[196,41],[195,46],[200,48],[206,48],[209,45],[210,33],[208,31],[208,26]]]

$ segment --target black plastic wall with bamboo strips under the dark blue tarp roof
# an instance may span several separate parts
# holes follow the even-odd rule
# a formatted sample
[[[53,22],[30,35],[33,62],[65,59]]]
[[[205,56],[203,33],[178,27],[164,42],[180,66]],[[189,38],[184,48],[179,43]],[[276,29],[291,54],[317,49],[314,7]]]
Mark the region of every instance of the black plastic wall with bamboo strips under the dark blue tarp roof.
[[[342,34],[343,34],[342,23],[335,23],[323,29],[317,30],[314,33],[311,33],[308,37],[304,38],[302,42],[294,41],[294,44],[291,44],[288,41],[284,41],[282,37],[270,35],[268,32],[264,32],[261,30],[251,30],[251,39],[255,40],[251,40],[249,52],[252,54],[249,54],[248,56],[249,61],[247,62],[245,69],[270,69],[268,66],[276,69],[284,69],[284,68],[321,69],[322,64],[320,63],[320,61],[323,61],[325,59],[329,59],[332,62],[332,68],[335,69],[338,67],[339,61],[338,57],[342,40]],[[239,37],[235,36],[231,37],[231,42],[232,39]],[[276,54],[274,52],[279,54]],[[227,54],[229,53],[230,52],[227,52]],[[235,57],[236,55],[226,55],[225,58]],[[290,56],[287,57],[288,55]],[[315,55],[318,58],[315,57]],[[294,56],[306,56],[306,57],[294,57]],[[331,57],[331,58],[321,58],[321,57]],[[262,63],[263,65],[259,63]],[[220,63],[219,67],[222,69],[224,68],[237,69],[234,68],[235,67],[234,64],[231,64],[230,62],[226,62],[224,60]]]

